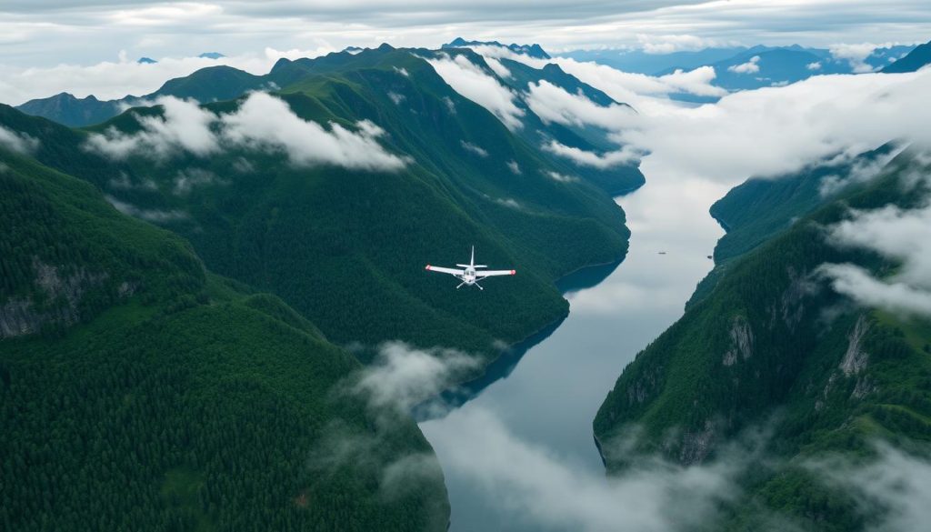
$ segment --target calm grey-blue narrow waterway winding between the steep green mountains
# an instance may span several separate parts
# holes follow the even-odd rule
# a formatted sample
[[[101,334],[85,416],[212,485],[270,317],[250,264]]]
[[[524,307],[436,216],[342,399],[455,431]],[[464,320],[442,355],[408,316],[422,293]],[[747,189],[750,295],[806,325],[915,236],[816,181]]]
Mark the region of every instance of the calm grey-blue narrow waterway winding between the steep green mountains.
[[[647,184],[618,199],[633,233],[626,260],[595,286],[578,288],[603,268],[563,280],[569,317],[477,397],[421,423],[443,466],[453,531],[600,529],[599,504],[623,513],[625,500],[601,489],[608,481],[591,422],[627,363],[681,316],[713,266],[722,230],[708,207],[726,192],[664,176],[659,164],[645,162],[644,173]]]

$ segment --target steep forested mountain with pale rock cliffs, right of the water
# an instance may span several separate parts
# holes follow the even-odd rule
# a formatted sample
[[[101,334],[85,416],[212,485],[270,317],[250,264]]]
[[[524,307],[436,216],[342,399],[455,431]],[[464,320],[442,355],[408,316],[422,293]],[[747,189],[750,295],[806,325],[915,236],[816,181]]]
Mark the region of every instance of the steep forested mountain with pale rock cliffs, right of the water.
[[[884,516],[882,504],[861,512],[855,493],[813,465],[844,457],[866,467],[880,459],[877,439],[924,456],[921,443],[931,441],[931,322],[852,305],[816,275],[829,263],[880,277],[899,266],[826,240],[825,228],[851,211],[923,205],[926,190],[914,176],[931,172],[926,160],[911,151],[880,160],[877,178],[850,184],[790,226],[750,231],[771,236],[736,256],[713,290],[627,366],[594,421],[609,471],[624,471],[638,453],[743,463],[729,458],[729,445],[757,430],[762,449],[737,466],[740,495],[723,503],[715,529],[760,529],[776,519],[803,530],[865,530]],[[752,192],[759,184],[743,186],[736,195],[773,202]],[[790,195],[798,186],[818,194],[802,180],[769,188]],[[752,202],[728,203],[717,209],[732,219],[735,207],[750,218],[757,211]],[[639,437],[620,451],[615,439],[634,427]]]

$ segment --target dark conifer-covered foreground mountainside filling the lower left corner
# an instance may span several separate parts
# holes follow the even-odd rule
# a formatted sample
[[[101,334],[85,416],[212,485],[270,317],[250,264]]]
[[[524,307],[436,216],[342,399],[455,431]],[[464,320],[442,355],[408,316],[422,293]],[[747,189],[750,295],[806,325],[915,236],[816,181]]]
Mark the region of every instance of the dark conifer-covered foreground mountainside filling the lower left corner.
[[[93,184],[0,160],[5,530],[447,528],[412,419],[344,393],[351,353]]]

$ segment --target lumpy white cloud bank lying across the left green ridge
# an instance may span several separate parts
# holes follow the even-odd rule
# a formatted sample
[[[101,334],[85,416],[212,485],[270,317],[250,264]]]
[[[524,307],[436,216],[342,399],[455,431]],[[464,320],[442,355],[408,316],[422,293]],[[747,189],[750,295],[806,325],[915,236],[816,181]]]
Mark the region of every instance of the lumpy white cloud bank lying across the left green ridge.
[[[253,92],[230,114],[214,115],[195,102],[164,97],[156,101],[163,116],[142,116],[142,130],[111,129],[91,135],[89,150],[108,157],[149,157],[162,160],[179,152],[206,157],[225,148],[282,153],[297,166],[331,164],[352,170],[398,171],[407,164],[378,143],[385,134],[370,121],[347,130],[296,116],[288,104],[263,92]]]

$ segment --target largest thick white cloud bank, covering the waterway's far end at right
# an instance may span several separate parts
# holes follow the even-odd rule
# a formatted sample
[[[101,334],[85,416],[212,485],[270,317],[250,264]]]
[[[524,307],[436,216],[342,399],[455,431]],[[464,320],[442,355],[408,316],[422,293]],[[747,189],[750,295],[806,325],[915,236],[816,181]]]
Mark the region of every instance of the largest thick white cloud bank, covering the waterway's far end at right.
[[[596,85],[606,90],[605,86]],[[742,91],[705,105],[641,100],[616,139],[644,163],[734,186],[777,177],[843,154],[852,159],[894,139],[931,145],[931,72],[818,75],[783,88]]]

